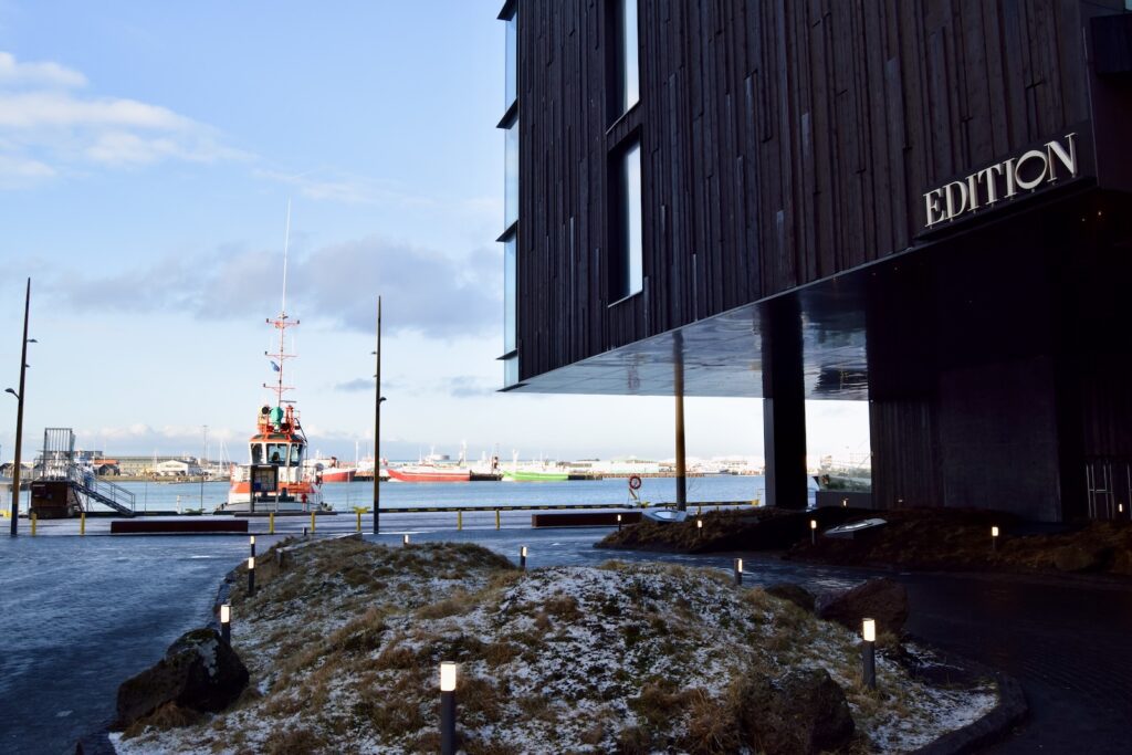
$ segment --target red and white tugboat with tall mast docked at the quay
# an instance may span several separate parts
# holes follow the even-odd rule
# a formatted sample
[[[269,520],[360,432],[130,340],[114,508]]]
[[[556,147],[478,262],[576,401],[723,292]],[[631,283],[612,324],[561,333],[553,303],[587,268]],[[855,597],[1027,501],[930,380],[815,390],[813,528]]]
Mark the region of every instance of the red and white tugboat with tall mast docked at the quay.
[[[291,207],[288,206],[288,239],[290,239]],[[250,464],[233,465],[232,481],[228,491],[228,503],[216,509],[216,514],[333,514],[334,509],[323,500],[323,480],[317,472],[303,466],[307,458],[307,435],[299,422],[299,412],[293,401],[285,401],[283,394],[292,386],[283,385],[283,368],[286,360],[295,354],[286,353],[286,331],[299,325],[286,314],[286,242],[283,246],[283,306],[274,320],[267,320],[280,334],[278,351],[265,354],[272,360],[276,372],[275,385],[264,387],[275,394],[274,405],[259,407],[256,434],[248,440]],[[269,464],[276,467],[277,482],[274,490],[259,490],[252,496],[251,469]]]

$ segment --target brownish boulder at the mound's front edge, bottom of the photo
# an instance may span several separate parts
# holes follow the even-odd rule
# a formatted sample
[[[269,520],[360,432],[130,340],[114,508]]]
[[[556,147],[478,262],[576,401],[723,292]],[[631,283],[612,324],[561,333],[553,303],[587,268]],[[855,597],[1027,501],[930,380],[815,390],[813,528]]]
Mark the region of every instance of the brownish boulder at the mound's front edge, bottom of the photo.
[[[825,669],[792,671],[778,683],[752,679],[739,722],[746,744],[766,755],[835,750],[856,728],[844,693]]]

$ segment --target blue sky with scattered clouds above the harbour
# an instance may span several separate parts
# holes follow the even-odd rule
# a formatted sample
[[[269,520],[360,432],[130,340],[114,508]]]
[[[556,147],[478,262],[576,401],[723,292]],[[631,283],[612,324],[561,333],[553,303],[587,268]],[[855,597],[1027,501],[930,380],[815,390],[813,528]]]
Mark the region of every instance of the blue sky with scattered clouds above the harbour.
[[[498,0],[0,0],[0,384],[25,447],[247,461],[282,304],[311,448],[670,458],[671,398],[501,394]],[[0,402],[0,458],[16,401]],[[762,456],[757,400],[688,398],[689,456]],[[811,402],[812,457],[868,452]],[[207,429],[205,429],[207,428]]]

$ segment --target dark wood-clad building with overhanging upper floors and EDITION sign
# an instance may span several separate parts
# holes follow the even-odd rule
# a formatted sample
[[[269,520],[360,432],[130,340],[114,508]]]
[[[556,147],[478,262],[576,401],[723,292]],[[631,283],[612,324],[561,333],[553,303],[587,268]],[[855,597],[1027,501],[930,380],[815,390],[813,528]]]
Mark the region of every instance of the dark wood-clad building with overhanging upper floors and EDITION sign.
[[[1127,516],[1124,0],[500,18],[507,389],[763,397],[790,507],[806,401],[868,401],[876,507]]]

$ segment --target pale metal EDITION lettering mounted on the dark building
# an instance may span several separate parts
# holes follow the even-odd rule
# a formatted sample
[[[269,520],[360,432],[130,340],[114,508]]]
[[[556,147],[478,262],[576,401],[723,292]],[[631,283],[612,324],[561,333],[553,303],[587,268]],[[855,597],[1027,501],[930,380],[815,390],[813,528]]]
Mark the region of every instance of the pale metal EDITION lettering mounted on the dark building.
[[[952,181],[924,195],[926,228],[953,221],[1010,201],[1021,191],[1032,192],[1041,185],[1063,178],[1077,178],[1077,134],[1046,141],[1019,157],[1011,157]]]

